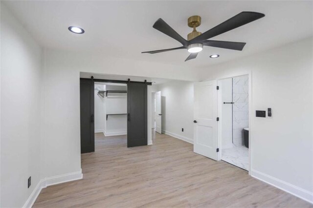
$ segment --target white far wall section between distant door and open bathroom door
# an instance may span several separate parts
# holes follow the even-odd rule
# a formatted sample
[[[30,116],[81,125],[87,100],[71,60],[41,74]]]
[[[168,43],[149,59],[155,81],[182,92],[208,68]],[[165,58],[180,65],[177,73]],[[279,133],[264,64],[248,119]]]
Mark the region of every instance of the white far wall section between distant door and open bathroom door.
[[[161,91],[162,131],[193,142],[193,83],[171,81],[156,87]],[[184,128],[183,132],[181,128]]]

